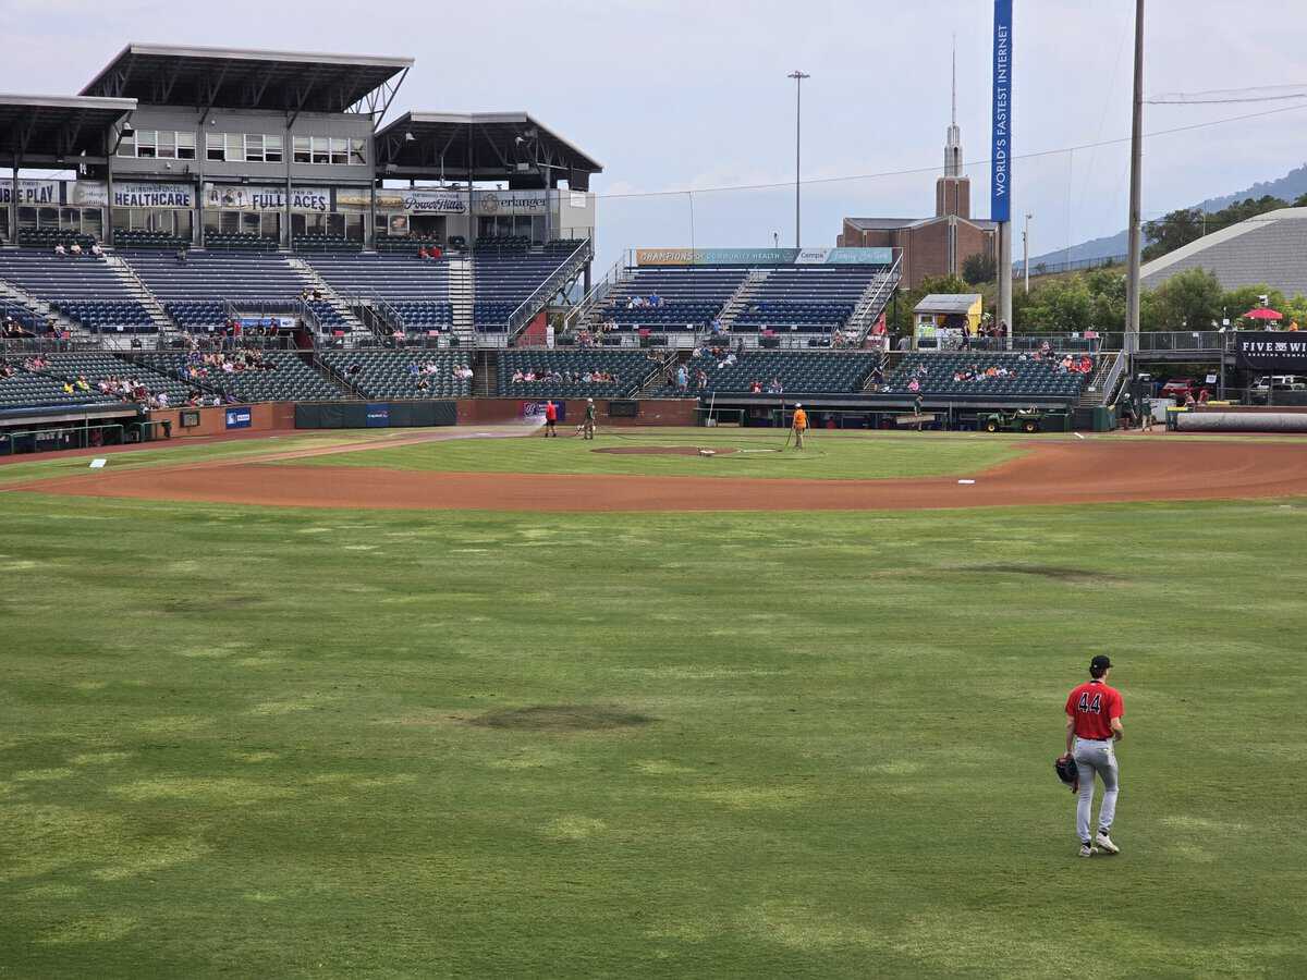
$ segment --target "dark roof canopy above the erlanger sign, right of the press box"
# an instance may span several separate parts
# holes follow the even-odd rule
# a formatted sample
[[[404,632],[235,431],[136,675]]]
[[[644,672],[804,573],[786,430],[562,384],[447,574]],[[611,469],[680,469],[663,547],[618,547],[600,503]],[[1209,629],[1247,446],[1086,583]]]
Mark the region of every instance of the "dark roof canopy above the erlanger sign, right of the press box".
[[[525,112],[406,112],[376,135],[387,178],[506,180],[514,189],[589,189],[601,163]]]

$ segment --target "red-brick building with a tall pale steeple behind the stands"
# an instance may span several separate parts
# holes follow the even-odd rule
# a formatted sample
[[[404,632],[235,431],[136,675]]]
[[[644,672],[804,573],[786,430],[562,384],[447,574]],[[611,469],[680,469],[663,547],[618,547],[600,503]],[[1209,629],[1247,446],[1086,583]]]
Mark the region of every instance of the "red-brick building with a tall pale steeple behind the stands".
[[[844,247],[901,248],[902,284],[916,289],[931,276],[961,276],[972,255],[995,256],[997,225],[971,217],[971,179],[962,174],[957,78],[953,122],[944,148],[944,175],[935,182],[935,216],[929,218],[844,218],[835,243]]]

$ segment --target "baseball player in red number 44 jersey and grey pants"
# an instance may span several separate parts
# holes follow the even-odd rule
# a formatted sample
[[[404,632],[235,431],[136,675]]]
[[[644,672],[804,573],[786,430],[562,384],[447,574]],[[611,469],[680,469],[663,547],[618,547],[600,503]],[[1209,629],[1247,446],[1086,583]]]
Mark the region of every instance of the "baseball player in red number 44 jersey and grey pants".
[[[1090,679],[1067,698],[1067,753],[1076,759],[1076,834],[1080,838],[1081,857],[1091,857],[1099,851],[1108,855],[1120,852],[1111,838],[1120,788],[1114,745],[1125,736],[1121,730],[1125,703],[1120,691],[1107,686],[1111,672],[1112,661],[1099,653],[1089,661]],[[1103,802],[1098,810],[1098,834],[1090,838],[1089,818],[1094,808],[1095,775],[1103,780]]]

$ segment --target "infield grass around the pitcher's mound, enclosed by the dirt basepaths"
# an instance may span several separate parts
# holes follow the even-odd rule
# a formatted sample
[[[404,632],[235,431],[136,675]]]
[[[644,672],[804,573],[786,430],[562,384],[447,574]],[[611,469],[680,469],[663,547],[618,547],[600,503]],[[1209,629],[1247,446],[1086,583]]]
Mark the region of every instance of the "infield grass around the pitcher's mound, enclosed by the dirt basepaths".
[[[1029,439],[1029,436],[1026,436]],[[626,456],[596,449],[701,447],[735,449],[699,456]],[[605,433],[591,442],[538,435],[459,439],[288,460],[290,465],[375,466],[443,473],[612,473],[625,476],[890,480],[976,473],[1026,452],[1017,439],[992,435],[914,436],[817,433],[802,452],[786,433],[767,430],[654,430]]]

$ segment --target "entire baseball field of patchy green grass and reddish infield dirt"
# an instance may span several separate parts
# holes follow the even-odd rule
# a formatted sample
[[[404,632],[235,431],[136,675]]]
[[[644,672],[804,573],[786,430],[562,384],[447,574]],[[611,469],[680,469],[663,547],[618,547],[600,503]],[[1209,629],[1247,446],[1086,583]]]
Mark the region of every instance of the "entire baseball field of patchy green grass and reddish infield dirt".
[[[450,435],[0,464],[0,976],[1307,975],[1307,443]]]

